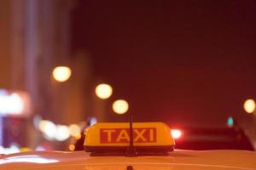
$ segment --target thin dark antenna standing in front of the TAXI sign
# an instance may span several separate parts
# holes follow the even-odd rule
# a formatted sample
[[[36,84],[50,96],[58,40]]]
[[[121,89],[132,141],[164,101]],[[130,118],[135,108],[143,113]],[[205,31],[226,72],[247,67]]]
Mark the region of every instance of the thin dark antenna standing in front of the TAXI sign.
[[[129,135],[130,135],[130,144],[129,147],[126,150],[126,156],[128,157],[136,157],[137,156],[137,150],[134,147],[134,141],[133,141],[133,128],[132,128],[132,116],[129,114]]]

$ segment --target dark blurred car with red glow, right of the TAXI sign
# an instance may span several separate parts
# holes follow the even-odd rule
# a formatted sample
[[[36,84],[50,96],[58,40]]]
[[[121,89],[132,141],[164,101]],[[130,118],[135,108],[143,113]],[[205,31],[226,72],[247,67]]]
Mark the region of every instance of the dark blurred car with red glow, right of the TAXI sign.
[[[176,139],[180,150],[254,150],[253,144],[237,127],[180,127],[183,135]]]

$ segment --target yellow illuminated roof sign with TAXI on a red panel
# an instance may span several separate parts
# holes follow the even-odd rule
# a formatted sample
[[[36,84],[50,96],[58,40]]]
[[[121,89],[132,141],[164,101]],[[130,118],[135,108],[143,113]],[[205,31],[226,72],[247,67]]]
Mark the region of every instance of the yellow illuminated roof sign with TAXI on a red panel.
[[[133,122],[133,144],[137,151],[173,150],[171,129],[162,122]],[[85,151],[125,151],[130,144],[129,122],[96,123],[87,130]]]

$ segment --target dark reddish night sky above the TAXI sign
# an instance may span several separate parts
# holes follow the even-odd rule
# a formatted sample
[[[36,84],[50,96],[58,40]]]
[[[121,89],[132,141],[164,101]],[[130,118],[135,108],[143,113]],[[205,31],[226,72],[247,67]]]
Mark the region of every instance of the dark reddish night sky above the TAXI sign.
[[[110,99],[136,121],[222,125],[247,121],[256,99],[256,1],[80,1],[73,52],[90,54]],[[109,106],[110,107],[110,106]]]

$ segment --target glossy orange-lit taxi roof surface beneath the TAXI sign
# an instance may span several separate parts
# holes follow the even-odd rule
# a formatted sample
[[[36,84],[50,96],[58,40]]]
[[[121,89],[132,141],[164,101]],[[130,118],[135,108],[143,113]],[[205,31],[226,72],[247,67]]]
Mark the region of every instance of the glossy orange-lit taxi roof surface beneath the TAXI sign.
[[[90,156],[84,151],[33,151],[0,159],[5,169],[256,169],[256,153],[247,150],[174,150],[168,156]]]

